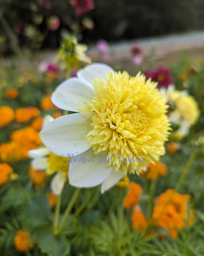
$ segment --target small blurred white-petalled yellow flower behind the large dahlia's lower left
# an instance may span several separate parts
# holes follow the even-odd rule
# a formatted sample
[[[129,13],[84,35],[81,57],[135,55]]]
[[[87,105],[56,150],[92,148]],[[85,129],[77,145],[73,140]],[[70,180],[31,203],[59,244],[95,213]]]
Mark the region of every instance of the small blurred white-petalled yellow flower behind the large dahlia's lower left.
[[[52,116],[46,116],[43,127],[53,120],[54,118]],[[55,194],[60,194],[64,188],[65,182],[67,181],[69,170],[67,163],[69,162],[69,159],[55,155],[46,147],[30,150],[28,151],[28,156],[33,159],[31,161],[31,166],[36,170],[46,170],[48,175],[52,175],[57,172],[51,182],[51,188]]]

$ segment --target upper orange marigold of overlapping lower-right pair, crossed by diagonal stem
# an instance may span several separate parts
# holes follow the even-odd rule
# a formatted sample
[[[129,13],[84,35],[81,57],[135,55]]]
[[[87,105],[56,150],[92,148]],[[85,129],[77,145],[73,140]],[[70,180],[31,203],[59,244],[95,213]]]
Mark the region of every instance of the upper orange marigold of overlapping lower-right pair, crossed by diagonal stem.
[[[165,205],[169,200],[169,198],[171,197],[171,195],[173,194],[173,192],[174,190],[172,189],[166,190],[164,193],[160,194],[160,196],[158,196],[155,199],[155,204]],[[187,203],[188,201],[190,201],[190,199],[191,199],[191,196],[189,194],[179,194],[175,192],[170,200],[170,204],[173,205],[173,207],[175,208],[175,211],[180,215],[181,219],[185,222],[189,221],[188,214],[187,214]],[[189,219],[191,219],[191,221],[189,222],[192,223],[194,219],[193,211],[190,212]]]

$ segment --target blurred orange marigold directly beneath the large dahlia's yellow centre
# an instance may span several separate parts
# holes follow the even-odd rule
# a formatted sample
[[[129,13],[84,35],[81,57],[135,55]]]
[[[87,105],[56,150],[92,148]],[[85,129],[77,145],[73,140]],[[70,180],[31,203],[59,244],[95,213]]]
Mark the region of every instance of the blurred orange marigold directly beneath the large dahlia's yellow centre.
[[[139,197],[142,194],[142,191],[142,188],[138,184],[131,181],[129,191],[123,201],[123,207],[125,209],[130,209],[137,205],[139,203]]]

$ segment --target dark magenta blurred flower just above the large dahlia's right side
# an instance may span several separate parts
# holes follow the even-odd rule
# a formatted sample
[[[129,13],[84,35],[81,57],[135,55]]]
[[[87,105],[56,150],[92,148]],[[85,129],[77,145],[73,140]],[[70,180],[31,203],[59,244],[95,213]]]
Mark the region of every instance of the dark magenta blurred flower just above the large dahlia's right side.
[[[172,83],[172,76],[169,68],[159,67],[157,70],[150,70],[145,72],[146,79],[151,78],[152,81],[157,82],[157,88],[168,87]]]

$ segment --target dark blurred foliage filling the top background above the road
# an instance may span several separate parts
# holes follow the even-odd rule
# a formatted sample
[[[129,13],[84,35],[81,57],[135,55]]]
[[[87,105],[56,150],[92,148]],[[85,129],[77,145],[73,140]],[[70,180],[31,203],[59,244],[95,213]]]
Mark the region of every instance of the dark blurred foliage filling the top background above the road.
[[[57,15],[60,28],[68,30],[75,20],[73,7],[69,0],[50,0],[51,9],[47,10],[38,0],[0,0],[0,11],[10,27],[23,21],[33,23],[33,13],[37,6],[38,15],[43,22],[39,26],[46,33],[46,18]],[[130,38],[150,37],[176,32],[202,30],[204,27],[204,0],[94,0],[95,9],[83,16],[95,23],[93,30],[83,31],[83,41],[95,42],[99,38],[116,41]],[[43,48],[55,48],[59,45],[60,29],[49,32],[42,43]],[[6,37],[0,26],[0,37]],[[20,44],[25,38],[18,35]]]

